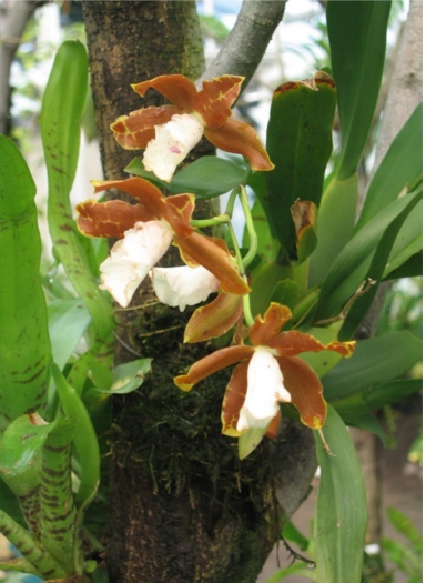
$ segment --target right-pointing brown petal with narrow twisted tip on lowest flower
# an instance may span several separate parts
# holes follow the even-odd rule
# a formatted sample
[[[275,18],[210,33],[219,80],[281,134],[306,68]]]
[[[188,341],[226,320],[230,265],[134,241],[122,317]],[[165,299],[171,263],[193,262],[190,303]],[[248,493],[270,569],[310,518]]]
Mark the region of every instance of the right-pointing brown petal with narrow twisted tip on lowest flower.
[[[281,356],[295,356],[302,352],[332,350],[348,358],[354,352],[356,342],[352,340],[348,342],[329,342],[328,344],[323,344],[311,334],[300,332],[298,330],[288,330],[272,339],[267,345],[277,350]]]

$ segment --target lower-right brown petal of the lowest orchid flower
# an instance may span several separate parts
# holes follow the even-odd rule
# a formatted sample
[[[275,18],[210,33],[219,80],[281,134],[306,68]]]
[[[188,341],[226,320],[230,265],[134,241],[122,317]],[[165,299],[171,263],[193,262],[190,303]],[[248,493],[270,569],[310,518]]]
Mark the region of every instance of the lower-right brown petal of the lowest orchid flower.
[[[316,373],[302,359],[277,356],[284,386],[292,395],[292,403],[301,414],[301,421],[311,429],[324,425],[327,405],[323,385]]]

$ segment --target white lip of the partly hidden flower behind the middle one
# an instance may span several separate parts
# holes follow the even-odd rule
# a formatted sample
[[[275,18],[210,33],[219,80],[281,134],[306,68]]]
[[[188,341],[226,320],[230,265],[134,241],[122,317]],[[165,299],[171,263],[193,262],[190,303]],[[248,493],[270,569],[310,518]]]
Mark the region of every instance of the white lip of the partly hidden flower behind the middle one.
[[[189,268],[154,268],[151,273],[152,284],[159,300],[181,312],[186,305],[195,305],[219,290],[220,282],[202,265]]]

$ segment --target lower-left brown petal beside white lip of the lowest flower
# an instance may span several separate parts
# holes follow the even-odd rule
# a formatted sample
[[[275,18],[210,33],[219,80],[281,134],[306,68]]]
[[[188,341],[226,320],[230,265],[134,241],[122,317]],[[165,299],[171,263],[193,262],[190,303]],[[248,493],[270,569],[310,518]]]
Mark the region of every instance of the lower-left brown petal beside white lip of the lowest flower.
[[[244,361],[234,368],[222,402],[222,433],[231,438],[242,434],[236,430],[236,423],[247,392],[248,363]]]

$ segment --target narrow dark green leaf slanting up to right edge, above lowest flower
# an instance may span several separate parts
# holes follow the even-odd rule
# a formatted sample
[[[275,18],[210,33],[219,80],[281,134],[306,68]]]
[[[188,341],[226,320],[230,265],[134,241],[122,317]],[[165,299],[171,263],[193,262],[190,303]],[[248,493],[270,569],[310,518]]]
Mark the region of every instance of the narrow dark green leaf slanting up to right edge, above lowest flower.
[[[368,312],[374,298],[376,296],[378,290],[378,283],[383,279],[383,274],[388,262],[388,257],[394,245],[395,239],[400,232],[400,228],[406,221],[408,214],[412,212],[413,208],[418,204],[416,199],[412,200],[412,203],[408,204],[403,212],[400,212],[386,228],[383,233],[377,249],[374,252],[372,262],[369,264],[368,271],[366,273],[367,281],[376,282],[373,284],[368,291],[358,296],[355,302],[352,304],[345,321],[343,322],[341,332],[338,334],[339,340],[349,340],[355,335],[356,330],[364,320],[366,313]],[[418,212],[418,211],[417,211]]]

